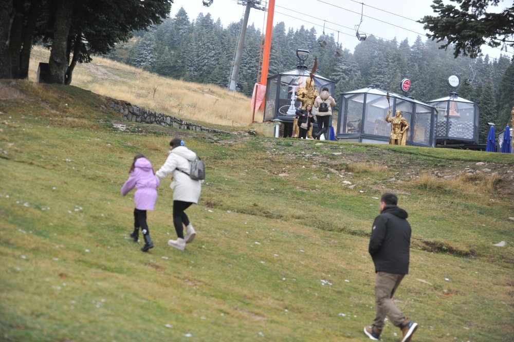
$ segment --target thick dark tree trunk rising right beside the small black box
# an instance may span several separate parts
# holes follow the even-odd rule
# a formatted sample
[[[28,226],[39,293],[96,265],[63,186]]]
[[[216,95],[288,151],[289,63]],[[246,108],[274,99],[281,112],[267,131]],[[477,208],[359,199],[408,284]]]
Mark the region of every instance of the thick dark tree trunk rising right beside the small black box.
[[[72,0],[60,0],[57,4],[56,22],[53,26],[53,42],[48,60],[49,83],[64,84],[68,69],[68,35],[73,12]]]

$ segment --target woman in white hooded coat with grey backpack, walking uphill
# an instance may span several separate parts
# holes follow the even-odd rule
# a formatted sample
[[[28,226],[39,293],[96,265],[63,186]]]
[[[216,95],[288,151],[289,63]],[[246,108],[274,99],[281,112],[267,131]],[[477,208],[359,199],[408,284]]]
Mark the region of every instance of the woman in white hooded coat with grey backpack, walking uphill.
[[[173,189],[173,224],[178,238],[168,241],[168,244],[181,251],[186,248],[186,243],[193,241],[196,236],[185,210],[191,204],[198,203],[201,192],[201,181],[189,177],[191,162],[196,159],[196,154],[184,145],[184,141],[179,138],[170,141],[168,158],[155,173],[160,179],[168,175],[173,177],[170,184]],[[186,236],[184,236],[182,224],[186,225]]]

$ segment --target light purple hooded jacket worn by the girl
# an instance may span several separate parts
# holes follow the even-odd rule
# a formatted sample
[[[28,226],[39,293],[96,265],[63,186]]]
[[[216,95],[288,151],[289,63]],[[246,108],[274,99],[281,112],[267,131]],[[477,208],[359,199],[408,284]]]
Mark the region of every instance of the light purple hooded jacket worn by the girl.
[[[121,195],[125,196],[135,187],[134,202],[136,203],[136,209],[154,210],[159,184],[160,180],[154,175],[150,161],[146,158],[138,158],[134,164],[133,172],[121,187]]]

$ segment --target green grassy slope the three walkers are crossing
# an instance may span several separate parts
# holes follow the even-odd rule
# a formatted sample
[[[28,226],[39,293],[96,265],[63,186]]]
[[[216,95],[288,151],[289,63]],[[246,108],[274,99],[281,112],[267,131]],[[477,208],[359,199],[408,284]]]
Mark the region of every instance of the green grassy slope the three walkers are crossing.
[[[134,135],[113,130],[119,117],[91,92],[15,88],[0,102],[3,340],[365,340],[374,313],[373,197],[388,190],[401,194],[413,225],[411,273],[395,300],[419,322],[415,340],[514,333],[511,197],[481,187],[484,179],[464,188],[390,181],[413,168],[478,161],[512,170],[511,156],[152,134],[148,125]],[[159,167],[173,136],[207,162],[208,184],[188,210],[198,235],[182,253],[166,244],[175,233],[165,181],[149,214],[156,248],[141,253],[127,239],[132,198],[119,190],[134,155]],[[344,173],[356,161],[388,168]],[[492,246],[500,240],[506,247]],[[399,341],[395,333],[389,325],[383,339]]]

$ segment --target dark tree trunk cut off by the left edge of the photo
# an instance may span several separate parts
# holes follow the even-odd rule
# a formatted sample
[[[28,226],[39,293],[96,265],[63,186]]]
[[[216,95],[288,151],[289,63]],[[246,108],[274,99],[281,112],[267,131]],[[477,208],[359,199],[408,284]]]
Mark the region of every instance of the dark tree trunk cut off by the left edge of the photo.
[[[0,79],[12,78],[9,37],[13,16],[12,0],[0,0]]]

